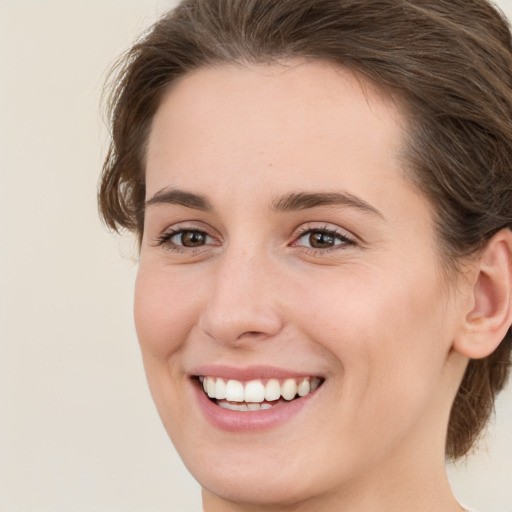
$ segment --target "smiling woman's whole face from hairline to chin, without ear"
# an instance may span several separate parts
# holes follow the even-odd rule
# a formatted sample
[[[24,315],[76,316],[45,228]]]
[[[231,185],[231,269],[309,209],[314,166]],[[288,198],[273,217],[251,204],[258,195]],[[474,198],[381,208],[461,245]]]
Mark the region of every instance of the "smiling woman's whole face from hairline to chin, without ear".
[[[202,69],[164,98],[135,320],[207,501],[349,500],[443,464],[460,315],[404,130],[322,62]]]

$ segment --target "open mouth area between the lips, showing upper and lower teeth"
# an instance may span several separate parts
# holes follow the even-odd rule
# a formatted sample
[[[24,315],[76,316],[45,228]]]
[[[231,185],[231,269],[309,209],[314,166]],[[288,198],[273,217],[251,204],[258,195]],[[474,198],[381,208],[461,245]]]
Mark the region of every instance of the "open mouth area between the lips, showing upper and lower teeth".
[[[321,377],[265,379],[242,382],[199,376],[204,393],[219,407],[232,411],[261,411],[313,393],[324,382]]]

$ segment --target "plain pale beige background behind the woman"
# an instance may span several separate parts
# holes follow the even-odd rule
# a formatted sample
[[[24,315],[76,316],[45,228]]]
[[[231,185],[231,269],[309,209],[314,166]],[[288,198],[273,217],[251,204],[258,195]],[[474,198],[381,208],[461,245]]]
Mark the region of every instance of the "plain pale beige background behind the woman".
[[[200,510],[146,388],[132,245],[95,203],[105,70],[172,4],[0,0],[3,512]],[[483,449],[450,469],[481,512],[512,512],[511,387],[497,408]]]

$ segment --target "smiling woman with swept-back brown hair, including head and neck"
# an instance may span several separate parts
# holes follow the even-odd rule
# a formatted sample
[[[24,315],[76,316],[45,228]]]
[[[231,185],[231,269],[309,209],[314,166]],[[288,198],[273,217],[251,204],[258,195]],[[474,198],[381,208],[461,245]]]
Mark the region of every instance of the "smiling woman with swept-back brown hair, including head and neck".
[[[461,511],[511,350],[512,49],[485,0],[185,0],[99,199],[204,509]]]

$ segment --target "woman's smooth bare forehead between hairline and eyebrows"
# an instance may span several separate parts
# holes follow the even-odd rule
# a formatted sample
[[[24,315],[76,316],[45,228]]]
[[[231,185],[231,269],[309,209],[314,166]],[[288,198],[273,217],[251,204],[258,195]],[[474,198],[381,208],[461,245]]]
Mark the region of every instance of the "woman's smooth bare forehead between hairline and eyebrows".
[[[403,181],[405,129],[390,94],[329,62],[199,69],[172,85],[155,115],[147,195],[203,182],[213,191],[225,178],[247,190],[254,179],[356,194],[364,184],[371,197],[382,181]]]

